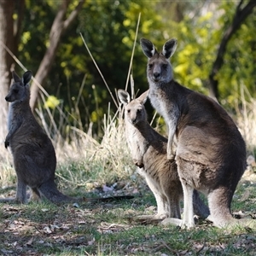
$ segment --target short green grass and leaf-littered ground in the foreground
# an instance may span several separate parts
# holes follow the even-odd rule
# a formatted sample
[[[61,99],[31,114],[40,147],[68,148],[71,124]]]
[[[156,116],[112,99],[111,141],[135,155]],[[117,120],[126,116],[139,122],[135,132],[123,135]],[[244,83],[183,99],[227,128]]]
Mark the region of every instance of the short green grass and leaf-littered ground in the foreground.
[[[255,181],[254,174],[250,181],[241,181],[233,212],[255,216]],[[72,194],[73,185],[63,180],[61,183],[66,188],[62,191]],[[0,254],[254,255],[255,230],[220,230],[206,221],[191,230],[137,223],[133,217],[154,212],[155,202],[143,182],[132,183],[131,187],[138,192],[131,200],[84,203],[79,207],[57,207],[48,201],[1,204]],[[127,189],[126,194],[131,194],[132,189]],[[95,188],[76,190],[76,195],[96,195]]]

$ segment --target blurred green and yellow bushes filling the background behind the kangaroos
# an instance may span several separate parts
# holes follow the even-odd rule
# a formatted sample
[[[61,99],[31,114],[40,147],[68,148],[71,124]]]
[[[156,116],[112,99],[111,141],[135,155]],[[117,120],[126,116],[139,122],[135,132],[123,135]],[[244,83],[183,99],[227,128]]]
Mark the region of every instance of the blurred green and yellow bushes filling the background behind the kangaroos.
[[[1,0],[4,1],[4,0]],[[49,47],[49,31],[62,2],[68,2],[72,12],[79,1],[26,0],[16,53],[19,61],[36,74]],[[72,25],[61,35],[55,59],[44,84],[49,93],[45,102],[38,97],[37,107],[56,106],[69,113],[67,119],[77,119],[79,128],[92,129],[101,138],[102,120],[117,107],[98,73],[81,35],[96,60],[110,90],[125,88],[136,38],[138,16],[141,14],[137,44],[131,73],[135,91],[148,89],[147,58],[140,49],[139,39],[150,39],[158,49],[169,38],[177,38],[177,52],[172,57],[174,78],[190,89],[209,95],[212,65],[225,32],[238,14],[253,1],[101,1],[86,0]],[[14,20],[19,6],[15,6]],[[16,14],[16,15],[15,15]],[[224,51],[224,62],[214,79],[218,81],[218,101],[230,113],[241,108],[241,93],[249,101],[256,96],[256,9],[251,8],[242,20]],[[8,46],[8,45],[7,45]],[[18,64],[15,71],[23,73]],[[130,88],[129,88],[130,90]],[[149,104],[148,104],[149,105]],[[149,117],[153,109],[148,106]],[[53,114],[60,122],[58,113]],[[67,127],[63,129],[63,136]]]

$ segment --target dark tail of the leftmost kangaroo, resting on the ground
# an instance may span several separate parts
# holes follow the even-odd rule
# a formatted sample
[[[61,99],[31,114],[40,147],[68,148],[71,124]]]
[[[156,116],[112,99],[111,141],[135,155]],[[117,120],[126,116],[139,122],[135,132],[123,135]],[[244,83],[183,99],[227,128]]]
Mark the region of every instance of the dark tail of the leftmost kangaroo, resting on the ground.
[[[80,201],[77,198],[70,197],[67,195],[62,194],[56,187],[56,184],[54,181],[48,181],[46,183],[43,183],[38,190],[40,191],[40,194],[44,195],[49,201],[51,201],[54,204],[59,203],[72,203],[72,202],[78,202]]]

